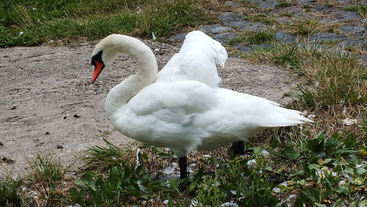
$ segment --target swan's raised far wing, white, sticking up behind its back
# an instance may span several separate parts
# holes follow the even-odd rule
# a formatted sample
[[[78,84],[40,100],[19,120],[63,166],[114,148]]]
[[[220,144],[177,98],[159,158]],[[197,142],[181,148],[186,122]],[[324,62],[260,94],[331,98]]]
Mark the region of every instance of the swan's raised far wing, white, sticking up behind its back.
[[[182,48],[159,72],[156,82],[193,80],[216,87],[221,81],[216,63],[224,66],[227,52],[221,43],[200,31],[186,35]]]

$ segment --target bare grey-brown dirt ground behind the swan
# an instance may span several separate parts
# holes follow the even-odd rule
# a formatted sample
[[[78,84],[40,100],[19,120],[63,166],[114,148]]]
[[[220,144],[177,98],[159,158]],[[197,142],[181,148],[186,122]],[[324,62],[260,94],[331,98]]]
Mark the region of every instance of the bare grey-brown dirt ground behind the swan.
[[[128,55],[119,56],[91,83],[90,56],[98,41],[74,46],[12,47],[0,49],[0,157],[1,171],[24,172],[25,157],[60,155],[71,163],[88,146],[104,137],[121,144],[130,139],[117,132],[105,114],[111,88],[134,74],[138,67]],[[168,44],[143,41],[155,52],[163,68],[179,50]],[[221,87],[285,103],[283,92],[292,86],[283,69],[230,57],[218,67]],[[6,162],[9,160],[15,162]],[[1,161],[1,160],[0,160]],[[79,167],[77,161],[74,167]]]

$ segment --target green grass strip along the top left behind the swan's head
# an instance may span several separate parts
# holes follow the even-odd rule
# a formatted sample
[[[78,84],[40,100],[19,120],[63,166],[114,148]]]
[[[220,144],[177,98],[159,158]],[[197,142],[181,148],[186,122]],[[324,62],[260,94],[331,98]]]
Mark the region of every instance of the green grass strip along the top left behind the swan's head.
[[[151,38],[153,32],[161,38],[210,22],[211,17],[192,0],[7,0],[0,3],[0,46],[92,40],[111,33]]]

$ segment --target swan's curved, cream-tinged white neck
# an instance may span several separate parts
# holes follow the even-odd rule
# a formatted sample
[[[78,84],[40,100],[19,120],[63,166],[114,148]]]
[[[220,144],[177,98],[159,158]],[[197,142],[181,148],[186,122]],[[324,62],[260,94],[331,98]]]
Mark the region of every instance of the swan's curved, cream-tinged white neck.
[[[127,104],[140,90],[155,82],[158,66],[152,50],[138,39],[125,35],[114,35],[109,42],[112,45],[103,51],[103,54],[113,57],[113,60],[119,54],[130,54],[139,66],[135,75],[126,78],[110,90],[106,98],[106,113],[110,117]]]

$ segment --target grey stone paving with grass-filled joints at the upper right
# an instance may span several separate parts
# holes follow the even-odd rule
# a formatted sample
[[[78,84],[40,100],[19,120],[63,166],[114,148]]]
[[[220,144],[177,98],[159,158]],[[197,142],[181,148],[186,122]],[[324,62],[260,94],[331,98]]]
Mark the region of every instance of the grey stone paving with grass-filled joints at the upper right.
[[[361,15],[354,11],[345,10],[346,7],[364,7],[366,10],[367,0],[296,0],[291,4],[284,4],[281,0],[248,0],[242,3],[226,1],[225,4],[233,12],[224,12],[219,15],[219,23],[213,25],[200,26],[198,30],[203,31],[213,39],[227,44],[241,52],[251,52],[254,44],[244,41],[234,44],[231,39],[240,39],[246,32],[269,31],[275,35],[276,42],[281,44],[303,44],[315,45],[321,50],[334,51],[335,47],[344,46],[346,49],[359,53],[362,60],[367,60],[367,15]],[[290,1],[289,1],[290,2]],[[271,23],[266,21],[251,21],[251,15],[241,15],[250,6],[250,10],[257,11],[254,14],[261,14]],[[279,6],[282,5],[282,6]],[[289,6],[288,6],[289,5]],[[246,8],[247,7],[247,8]],[[237,11],[238,13],[234,12]],[[243,12],[247,13],[247,12]],[[315,24],[317,28],[308,35],[292,32],[292,25]],[[302,24],[301,24],[302,27]],[[333,29],[330,29],[333,28]],[[301,28],[302,29],[302,28]],[[331,31],[331,32],[330,32]],[[172,40],[183,40],[186,33],[177,34],[171,37]],[[232,44],[231,44],[232,43]],[[181,43],[182,44],[182,43]],[[178,45],[180,46],[180,44]],[[272,47],[269,44],[258,44],[258,47]]]

